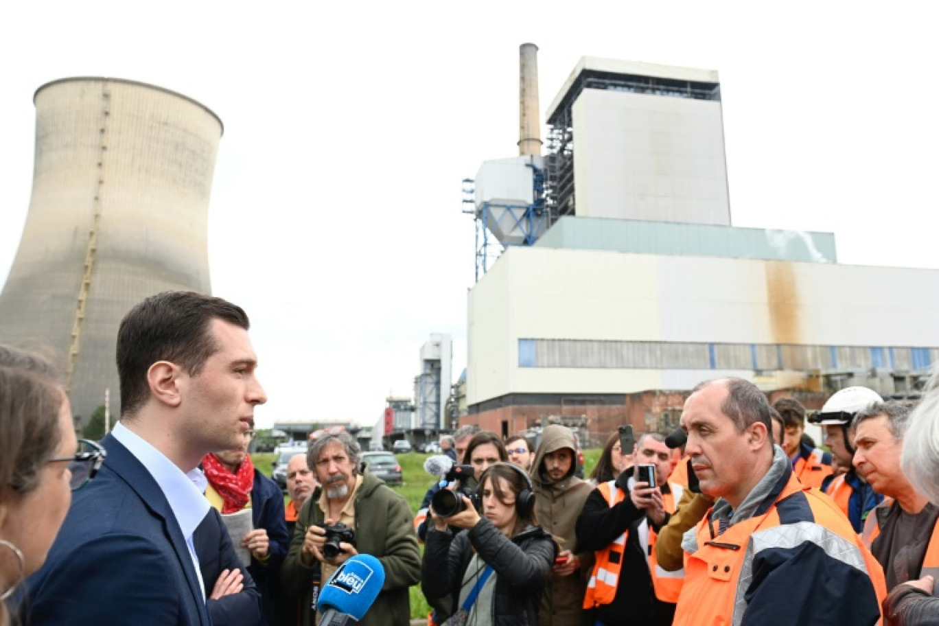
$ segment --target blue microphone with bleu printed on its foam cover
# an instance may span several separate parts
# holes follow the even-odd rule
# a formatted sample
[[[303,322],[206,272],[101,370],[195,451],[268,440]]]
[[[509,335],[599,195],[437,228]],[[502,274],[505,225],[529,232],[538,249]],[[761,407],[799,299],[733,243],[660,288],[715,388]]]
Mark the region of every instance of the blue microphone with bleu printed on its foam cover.
[[[318,626],[349,626],[365,616],[385,584],[385,568],[372,555],[350,557],[319,592]]]

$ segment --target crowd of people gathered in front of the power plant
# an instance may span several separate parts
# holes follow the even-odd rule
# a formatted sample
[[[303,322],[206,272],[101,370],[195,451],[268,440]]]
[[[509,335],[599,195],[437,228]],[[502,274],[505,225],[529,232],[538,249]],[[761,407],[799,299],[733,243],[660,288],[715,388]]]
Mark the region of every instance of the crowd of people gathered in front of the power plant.
[[[439,626],[939,624],[939,375],[916,406],[854,387],[811,415],[704,381],[680,430],[610,435],[588,480],[562,425],[465,426],[414,516],[346,433],[289,460],[285,506],[248,453],[249,327],[189,292],[134,307],[100,443],[49,359],[0,346],[0,626],[312,625],[360,554],[385,573],[365,626],[408,624],[417,585]]]

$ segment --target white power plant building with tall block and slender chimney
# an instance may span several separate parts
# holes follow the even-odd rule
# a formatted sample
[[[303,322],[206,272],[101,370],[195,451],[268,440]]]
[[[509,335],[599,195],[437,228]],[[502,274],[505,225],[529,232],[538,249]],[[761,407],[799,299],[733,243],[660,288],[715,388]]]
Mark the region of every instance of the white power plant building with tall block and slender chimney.
[[[716,71],[585,57],[546,118],[546,155],[522,130],[518,157],[465,183],[478,248],[461,424],[583,418],[596,443],[620,423],[674,426],[706,379],[811,407],[850,385],[906,396],[939,359],[939,294],[923,288],[939,271],[840,265],[831,233],[731,225]]]

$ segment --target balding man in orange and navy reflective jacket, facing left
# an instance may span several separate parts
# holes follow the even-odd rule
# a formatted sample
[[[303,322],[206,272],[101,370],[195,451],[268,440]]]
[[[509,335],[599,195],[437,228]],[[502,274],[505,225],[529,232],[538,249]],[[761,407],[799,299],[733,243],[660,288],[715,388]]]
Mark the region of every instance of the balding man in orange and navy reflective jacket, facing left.
[[[766,396],[740,378],[703,382],[685,401],[685,451],[716,502],[685,533],[674,624],[877,623],[880,565],[834,502],[795,478],[770,420]]]

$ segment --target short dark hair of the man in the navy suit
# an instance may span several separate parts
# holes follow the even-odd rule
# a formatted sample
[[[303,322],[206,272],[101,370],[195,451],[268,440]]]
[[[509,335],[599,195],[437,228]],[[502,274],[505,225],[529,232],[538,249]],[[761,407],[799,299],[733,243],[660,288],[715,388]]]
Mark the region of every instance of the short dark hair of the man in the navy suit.
[[[165,291],[131,309],[117,330],[117,374],[121,414],[132,416],[146,403],[146,372],[157,361],[175,363],[191,376],[218,352],[213,319],[248,329],[248,315],[222,298],[192,291]]]

